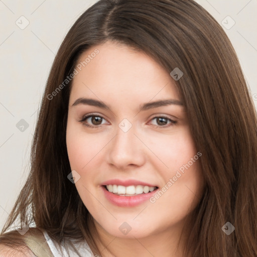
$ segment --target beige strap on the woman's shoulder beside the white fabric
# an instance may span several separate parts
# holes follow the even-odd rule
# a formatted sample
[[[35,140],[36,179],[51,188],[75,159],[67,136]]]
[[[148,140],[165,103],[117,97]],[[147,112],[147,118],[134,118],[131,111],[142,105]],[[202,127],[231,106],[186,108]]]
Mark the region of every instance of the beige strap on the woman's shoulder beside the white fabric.
[[[44,235],[26,235],[25,242],[38,257],[54,257]]]

